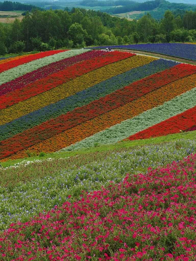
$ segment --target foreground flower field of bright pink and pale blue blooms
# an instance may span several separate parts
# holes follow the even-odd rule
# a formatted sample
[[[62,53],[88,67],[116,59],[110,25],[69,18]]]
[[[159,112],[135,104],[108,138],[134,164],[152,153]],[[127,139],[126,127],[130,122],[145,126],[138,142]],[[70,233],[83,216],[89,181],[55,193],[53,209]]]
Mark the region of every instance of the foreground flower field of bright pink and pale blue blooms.
[[[195,150],[178,140],[2,168],[0,260],[195,260]]]

